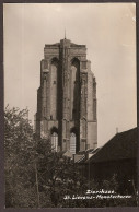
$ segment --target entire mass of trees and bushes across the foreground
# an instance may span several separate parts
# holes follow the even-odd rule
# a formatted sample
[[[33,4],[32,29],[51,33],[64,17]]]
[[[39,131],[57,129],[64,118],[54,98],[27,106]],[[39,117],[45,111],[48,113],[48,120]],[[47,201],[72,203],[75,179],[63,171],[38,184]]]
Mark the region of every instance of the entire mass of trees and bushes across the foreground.
[[[54,152],[50,141],[34,137],[27,109],[4,113],[7,208],[103,208],[132,207],[136,199],[65,199],[85,196],[88,189],[119,192],[117,177],[96,181],[63,152]],[[125,191],[125,195],[128,195]]]

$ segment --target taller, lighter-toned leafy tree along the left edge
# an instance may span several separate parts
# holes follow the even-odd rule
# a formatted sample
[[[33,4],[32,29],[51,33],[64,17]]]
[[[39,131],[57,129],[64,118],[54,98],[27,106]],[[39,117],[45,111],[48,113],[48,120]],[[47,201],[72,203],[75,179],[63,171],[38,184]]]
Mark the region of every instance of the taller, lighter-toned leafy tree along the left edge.
[[[33,207],[36,201],[30,151],[34,145],[33,128],[27,114],[27,109],[9,106],[4,111],[5,207]]]

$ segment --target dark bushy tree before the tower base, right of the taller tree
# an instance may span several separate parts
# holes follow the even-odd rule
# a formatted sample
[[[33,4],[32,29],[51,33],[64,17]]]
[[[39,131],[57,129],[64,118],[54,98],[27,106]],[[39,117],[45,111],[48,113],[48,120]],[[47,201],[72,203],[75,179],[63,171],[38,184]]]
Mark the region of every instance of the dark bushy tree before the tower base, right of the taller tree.
[[[47,201],[40,200],[44,207],[62,207],[63,197],[83,192],[84,177],[78,166],[63,152],[54,152],[49,140],[39,140],[37,145],[37,173],[40,196],[45,193]]]

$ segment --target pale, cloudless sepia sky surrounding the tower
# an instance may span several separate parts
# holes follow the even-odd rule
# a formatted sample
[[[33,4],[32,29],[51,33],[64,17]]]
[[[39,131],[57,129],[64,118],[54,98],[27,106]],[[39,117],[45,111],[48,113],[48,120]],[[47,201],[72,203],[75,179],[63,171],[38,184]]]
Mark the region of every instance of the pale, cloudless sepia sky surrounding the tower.
[[[137,126],[135,3],[4,3],[4,106],[34,121],[45,44],[86,45],[96,78],[99,146]]]

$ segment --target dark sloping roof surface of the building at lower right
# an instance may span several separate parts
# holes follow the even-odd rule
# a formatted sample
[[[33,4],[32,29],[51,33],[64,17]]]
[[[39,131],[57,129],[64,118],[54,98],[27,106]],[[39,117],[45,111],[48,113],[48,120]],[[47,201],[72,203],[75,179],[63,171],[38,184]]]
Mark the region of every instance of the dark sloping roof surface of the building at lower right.
[[[101,163],[123,158],[136,158],[138,143],[137,128],[114,136],[85,163]]]

